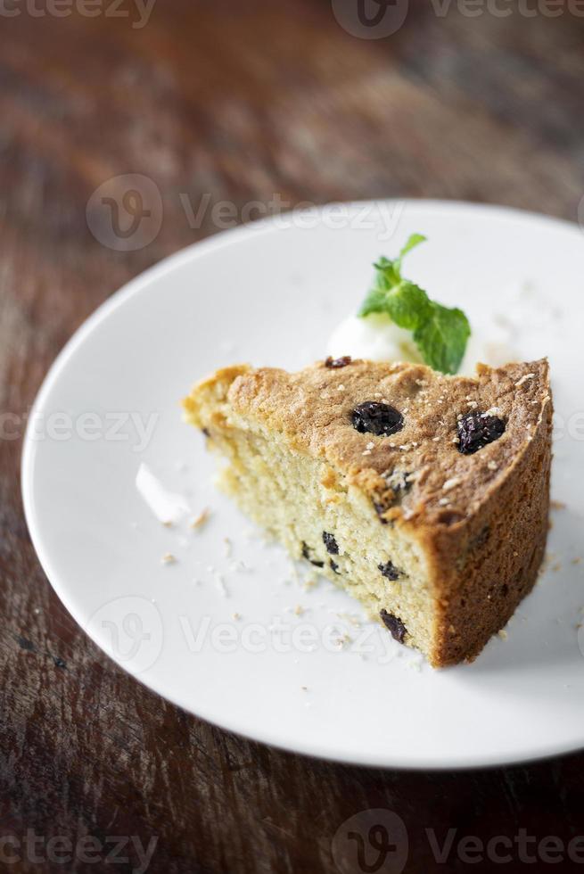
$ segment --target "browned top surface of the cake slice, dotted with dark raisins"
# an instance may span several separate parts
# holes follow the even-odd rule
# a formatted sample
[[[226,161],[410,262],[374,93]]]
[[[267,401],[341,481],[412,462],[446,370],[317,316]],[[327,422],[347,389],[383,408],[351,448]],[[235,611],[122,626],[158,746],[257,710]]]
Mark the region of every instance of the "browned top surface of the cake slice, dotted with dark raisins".
[[[545,359],[498,369],[480,365],[476,379],[370,361],[339,369],[317,363],[296,374],[264,367],[238,375],[228,399],[236,412],[288,433],[296,448],[350,471],[370,491],[387,487],[380,477],[388,472],[414,474],[400,514],[422,515],[426,524],[472,514],[527,447],[550,403]],[[399,409],[403,429],[391,437],[358,433],[351,411],[366,400]],[[455,442],[457,416],[474,410],[494,410],[506,431],[465,456]]]

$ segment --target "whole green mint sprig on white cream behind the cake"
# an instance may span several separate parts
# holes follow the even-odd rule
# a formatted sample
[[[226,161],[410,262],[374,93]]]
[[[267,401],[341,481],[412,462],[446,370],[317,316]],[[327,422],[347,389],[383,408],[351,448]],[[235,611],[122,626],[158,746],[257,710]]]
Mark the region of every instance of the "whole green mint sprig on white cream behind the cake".
[[[374,284],[358,315],[385,313],[397,326],[412,331],[415,345],[427,365],[445,374],[456,374],[471,335],[465,313],[431,301],[424,289],[401,276],[404,256],[425,239],[421,234],[413,234],[398,258],[380,258],[374,264]]]

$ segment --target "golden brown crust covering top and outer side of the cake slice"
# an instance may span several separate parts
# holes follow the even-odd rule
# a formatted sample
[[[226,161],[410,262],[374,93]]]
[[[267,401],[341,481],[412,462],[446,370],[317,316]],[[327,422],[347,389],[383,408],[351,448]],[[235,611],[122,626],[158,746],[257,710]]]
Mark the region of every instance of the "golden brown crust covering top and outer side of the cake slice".
[[[358,485],[380,524],[420,543],[436,603],[432,664],[476,656],[531,589],[547,534],[552,402],[545,359],[479,365],[476,378],[361,360],[338,368],[317,362],[296,374],[229,367],[185,401],[201,427],[205,392],[217,398],[218,425],[228,408],[284,433],[291,447]],[[391,436],[359,433],[351,414],[366,401],[398,409],[403,428]],[[457,423],[469,413],[497,416],[505,432],[465,455]]]

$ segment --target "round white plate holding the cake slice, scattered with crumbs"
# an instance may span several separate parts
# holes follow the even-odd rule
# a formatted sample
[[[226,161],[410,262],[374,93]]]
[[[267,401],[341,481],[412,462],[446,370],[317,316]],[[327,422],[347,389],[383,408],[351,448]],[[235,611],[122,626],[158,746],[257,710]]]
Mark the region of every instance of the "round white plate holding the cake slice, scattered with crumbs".
[[[250,539],[249,524],[215,491],[213,462],[178,406],[215,367],[295,368],[322,357],[333,326],[357,307],[371,262],[414,231],[430,242],[408,256],[407,276],[477,325],[510,317],[522,356],[549,356],[553,494],[567,505],[550,534],[555,560],[507,638],[445,671],[381,627],[352,626],[347,614],[361,612],[348,596],[325,581],[303,590],[278,547]],[[23,492],[54,589],[95,642],[160,695],[299,753],[455,768],[583,746],[584,565],[575,561],[584,521],[583,277],[578,227],[441,202],[280,218],[164,261],[86,322],[37,398]],[[153,425],[150,439],[139,422]],[[209,524],[196,532],[186,521],[160,524],[136,491],[142,463],[193,515],[211,507]],[[177,562],[163,565],[166,553]],[[234,566],[240,560],[246,570]],[[297,605],[306,612],[294,613]],[[352,640],[339,647],[345,632]]]

